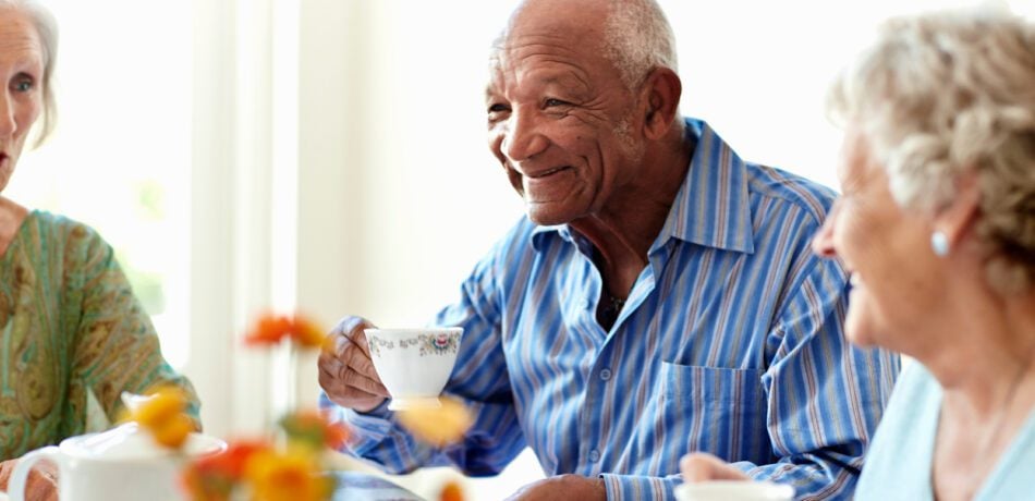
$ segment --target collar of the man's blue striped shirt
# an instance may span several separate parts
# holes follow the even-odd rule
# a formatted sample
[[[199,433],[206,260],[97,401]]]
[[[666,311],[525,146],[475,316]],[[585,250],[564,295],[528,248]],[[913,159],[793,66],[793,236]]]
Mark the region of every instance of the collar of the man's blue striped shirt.
[[[690,118],[685,122],[686,139],[696,144],[694,154],[648,254],[673,237],[707,247],[754,253],[744,161],[707,122]],[[537,225],[532,230],[533,248],[539,250],[543,235],[552,233],[579,244],[568,224]]]

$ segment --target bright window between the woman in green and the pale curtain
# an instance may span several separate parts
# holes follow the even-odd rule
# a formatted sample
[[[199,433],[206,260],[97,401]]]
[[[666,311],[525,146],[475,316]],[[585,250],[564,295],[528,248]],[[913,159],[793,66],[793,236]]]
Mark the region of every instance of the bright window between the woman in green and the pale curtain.
[[[190,351],[191,2],[50,0],[60,40],[51,139],[4,194],[95,228],[151,315],[166,359]]]

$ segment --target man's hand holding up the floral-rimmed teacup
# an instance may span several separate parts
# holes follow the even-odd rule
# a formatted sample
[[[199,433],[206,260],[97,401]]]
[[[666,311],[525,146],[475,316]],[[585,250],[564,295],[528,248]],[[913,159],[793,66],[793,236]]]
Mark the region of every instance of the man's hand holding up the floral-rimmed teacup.
[[[327,335],[317,361],[320,387],[331,402],[361,413],[390,396],[370,362],[363,334],[363,329],[370,327],[374,325],[362,318],[342,318]]]

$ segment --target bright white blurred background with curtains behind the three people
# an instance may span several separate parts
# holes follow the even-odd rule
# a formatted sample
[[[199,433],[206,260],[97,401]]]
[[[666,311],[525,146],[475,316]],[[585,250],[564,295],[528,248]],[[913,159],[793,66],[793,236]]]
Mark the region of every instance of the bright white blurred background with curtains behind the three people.
[[[61,28],[58,127],[4,195],[114,246],[208,432],[247,435],[316,401],[315,355],[242,346],[259,313],[423,325],[522,213],[483,102],[514,0],[44,2]],[[836,187],[840,132],[823,106],[839,68],[881,19],[975,2],[660,3],[682,111],[748,160]],[[998,3],[1035,17],[1035,0]],[[431,496],[455,475],[395,479]],[[526,451],[463,481],[498,499],[541,476]]]

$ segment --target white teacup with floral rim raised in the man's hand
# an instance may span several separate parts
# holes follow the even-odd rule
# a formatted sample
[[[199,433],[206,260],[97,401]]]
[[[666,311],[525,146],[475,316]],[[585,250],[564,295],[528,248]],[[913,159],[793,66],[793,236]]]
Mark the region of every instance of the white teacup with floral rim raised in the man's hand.
[[[460,327],[363,330],[374,368],[392,395],[388,408],[440,405],[463,332]]]

